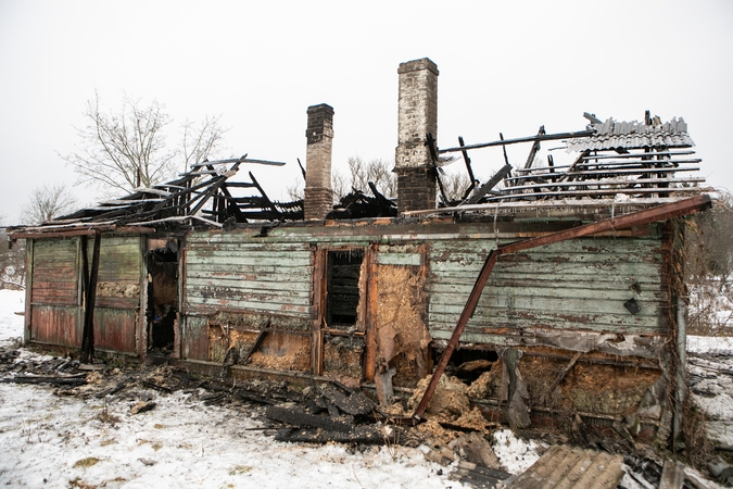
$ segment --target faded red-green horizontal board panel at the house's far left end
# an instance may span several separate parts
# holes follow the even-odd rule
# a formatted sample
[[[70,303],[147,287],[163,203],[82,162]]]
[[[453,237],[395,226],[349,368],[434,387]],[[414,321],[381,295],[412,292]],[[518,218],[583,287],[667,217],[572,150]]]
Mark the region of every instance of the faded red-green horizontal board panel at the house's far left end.
[[[30,301],[35,304],[77,304],[78,239],[37,239],[33,254]]]

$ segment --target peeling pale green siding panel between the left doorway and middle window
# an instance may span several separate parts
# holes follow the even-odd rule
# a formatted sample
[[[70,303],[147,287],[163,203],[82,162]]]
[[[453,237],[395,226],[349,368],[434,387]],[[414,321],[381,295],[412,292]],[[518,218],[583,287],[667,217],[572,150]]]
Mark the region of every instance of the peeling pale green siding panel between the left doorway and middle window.
[[[186,311],[253,311],[307,318],[312,251],[307,242],[247,234],[194,234],[186,251]]]

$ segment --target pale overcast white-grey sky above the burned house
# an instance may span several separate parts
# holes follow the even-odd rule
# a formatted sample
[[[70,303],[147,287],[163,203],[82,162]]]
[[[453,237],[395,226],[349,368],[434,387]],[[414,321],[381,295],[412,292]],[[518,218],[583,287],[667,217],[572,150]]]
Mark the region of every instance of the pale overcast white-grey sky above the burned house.
[[[308,105],[334,108],[337,168],[353,155],[393,160],[396,70],[424,57],[441,73],[441,148],[458,136],[529,136],[542,124],[580,130],[584,111],[633,121],[648,109],[662,121],[683,116],[702,175],[733,189],[728,0],[0,0],[0,214],[12,224],[34,187],[75,181],[58,153],[74,150],[94,90],[110,108],[123,90],[157,99],[177,122],[222,114],[230,130],[218,156],[288,163],[245,168],[274,198],[300,178]],[[511,163],[528,151],[513,148]],[[484,178],[503,165],[497,149],[471,158]],[[96,199],[88,187],[73,191],[83,204]]]

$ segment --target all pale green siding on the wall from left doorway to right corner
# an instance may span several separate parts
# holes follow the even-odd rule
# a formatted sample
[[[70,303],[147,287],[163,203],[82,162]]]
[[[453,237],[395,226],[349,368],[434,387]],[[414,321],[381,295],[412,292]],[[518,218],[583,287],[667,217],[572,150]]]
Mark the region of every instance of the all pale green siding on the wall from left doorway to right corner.
[[[495,236],[506,243],[542,228],[541,223],[525,224],[515,234],[505,229]],[[448,338],[488,253],[497,246],[495,237],[486,237],[491,229],[476,224],[283,226],[265,238],[253,238],[245,229],[197,233],[188,240],[187,311],[307,317],[308,243],[378,243],[377,264],[427,266],[427,324],[433,338]],[[646,237],[582,238],[501,256],[463,340],[495,342],[538,327],[666,334],[662,241],[657,226],[648,230]],[[634,283],[641,293],[631,290]],[[631,298],[642,308],[635,315],[623,306]]]

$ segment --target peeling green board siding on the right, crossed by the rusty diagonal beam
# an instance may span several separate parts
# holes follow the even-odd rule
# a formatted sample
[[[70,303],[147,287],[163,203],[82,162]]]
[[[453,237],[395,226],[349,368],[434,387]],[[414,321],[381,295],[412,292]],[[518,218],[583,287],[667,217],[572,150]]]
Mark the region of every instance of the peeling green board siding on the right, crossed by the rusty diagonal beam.
[[[493,240],[430,243],[429,328],[448,338]],[[662,256],[655,239],[578,239],[502,256],[462,337],[492,342],[501,330],[564,328],[664,333]],[[634,297],[642,311],[623,303]],[[508,329],[508,330],[507,330]]]

